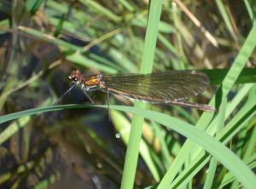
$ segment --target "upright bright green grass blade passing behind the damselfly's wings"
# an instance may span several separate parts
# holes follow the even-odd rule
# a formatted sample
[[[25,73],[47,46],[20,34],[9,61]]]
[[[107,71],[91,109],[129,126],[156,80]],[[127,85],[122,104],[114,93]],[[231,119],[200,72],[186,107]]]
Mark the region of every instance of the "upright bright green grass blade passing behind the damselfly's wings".
[[[152,71],[154,50],[160,23],[161,7],[162,0],[152,0],[149,3],[148,25],[146,28],[146,37],[143,47],[143,58],[140,73],[148,73]],[[146,107],[146,105],[143,103],[136,103],[135,106],[141,108]],[[137,116],[134,116],[131,121],[131,133],[126,150],[125,166],[121,182],[121,188],[123,189],[133,188],[137,169],[139,144],[143,133],[143,121],[143,117]]]

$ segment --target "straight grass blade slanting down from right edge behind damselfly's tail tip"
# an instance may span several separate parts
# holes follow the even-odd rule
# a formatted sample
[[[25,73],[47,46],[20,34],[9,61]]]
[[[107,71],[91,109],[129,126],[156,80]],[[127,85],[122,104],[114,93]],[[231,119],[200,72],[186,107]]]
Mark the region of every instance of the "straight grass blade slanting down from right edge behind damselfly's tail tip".
[[[256,35],[256,26],[253,26],[252,30],[247,36],[247,40],[245,41],[239,54],[237,55],[236,60],[233,62],[233,65],[230,67],[230,71],[227,73],[226,77],[224,78],[222,86],[218,89],[217,94],[215,94],[212,97],[210,106],[213,106],[214,104],[217,105],[216,98],[220,99],[220,102],[221,102],[222,101],[221,99],[225,98],[225,96],[227,96],[227,94],[230,92],[231,87],[236,82],[236,79],[240,75],[243,67],[245,66],[247,59],[250,57],[250,54],[252,54],[253,49],[255,48],[255,45],[256,45],[255,35]],[[195,127],[199,129],[206,129],[208,124],[211,122],[212,117],[213,117],[213,114],[203,113],[199,121],[196,123]],[[184,143],[183,148],[175,158],[170,169],[167,170],[166,175],[161,180],[158,188],[167,188],[172,183],[172,180],[176,177],[177,172],[181,169],[181,167],[183,166],[183,163],[189,157],[190,149],[194,145],[195,144],[190,140],[187,140]]]

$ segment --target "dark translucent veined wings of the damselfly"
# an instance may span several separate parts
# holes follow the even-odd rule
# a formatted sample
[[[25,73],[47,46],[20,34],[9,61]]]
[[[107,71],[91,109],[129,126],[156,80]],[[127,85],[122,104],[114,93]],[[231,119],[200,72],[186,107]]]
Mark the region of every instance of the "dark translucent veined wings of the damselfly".
[[[171,71],[152,74],[102,75],[108,91],[131,100],[168,103],[201,94],[209,84],[207,75],[198,71]]]

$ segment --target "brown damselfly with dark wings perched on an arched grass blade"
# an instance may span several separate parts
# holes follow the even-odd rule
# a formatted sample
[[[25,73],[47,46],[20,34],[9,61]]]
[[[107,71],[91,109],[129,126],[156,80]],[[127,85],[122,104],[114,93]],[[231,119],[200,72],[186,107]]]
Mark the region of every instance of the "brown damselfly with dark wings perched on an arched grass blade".
[[[78,69],[74,69],[71,71],[69,79],[73,81],[73,86],[61,98],[77,85],[91,103],[94,102],[87,92],[102,90],[107,93],[108,101],[109,93],[113,93],[130,100],[194,107],[205,112],[215,111],[211,106],[186,101],[189,97],[201,94],[209,84],[207,75],[199,71],[84,76]]]

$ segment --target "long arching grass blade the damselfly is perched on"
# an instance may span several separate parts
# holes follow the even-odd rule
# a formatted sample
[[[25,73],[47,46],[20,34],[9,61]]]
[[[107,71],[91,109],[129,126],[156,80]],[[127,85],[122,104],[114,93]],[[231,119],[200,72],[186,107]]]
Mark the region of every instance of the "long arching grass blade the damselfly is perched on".
[[[83,108],[88,106],[81,105],[66,105],[66,106],[49,106],[37,109],[31,109],[23,112],[12,113],[3,117],[0,117],[0,121],[9,121],[17,117],[31,116],[33,114],[38,114],[42,112],[51,112],[55,110],[66,110],[71,108]],[[108,106],[98,106],[108,108]],[[146,117],[148,119],[154,120],[157,123],[163,124],[170,129],[176,130],[178,133],[188,137],[189,139],[195,141],[197,144],[202,146],[207,152],[210,152],[214,158],[217,158],[220,163],[230,170],[230,172],[236,176],[236,179],[241,181],[241,183],[247,188],[254,188],[256,185],[256,177],[253,172],[248,169],[245,163],[241,162],[241,159],[236,157],[236,154],[230,151],[226,146],[221,144],[212,136],[207,135],[201,129],[197,129],[190,125],[189,123],[184,123],[183,121],[167,116],[160,112],[154,112],[149,110],[144,110],[137,107],[128,106],[110,106],[115,110],[131,112],[137,114],[141,117]],[[219,153],[221,152],[221,153]],[[234,166],[236,164],[236,166]]]

